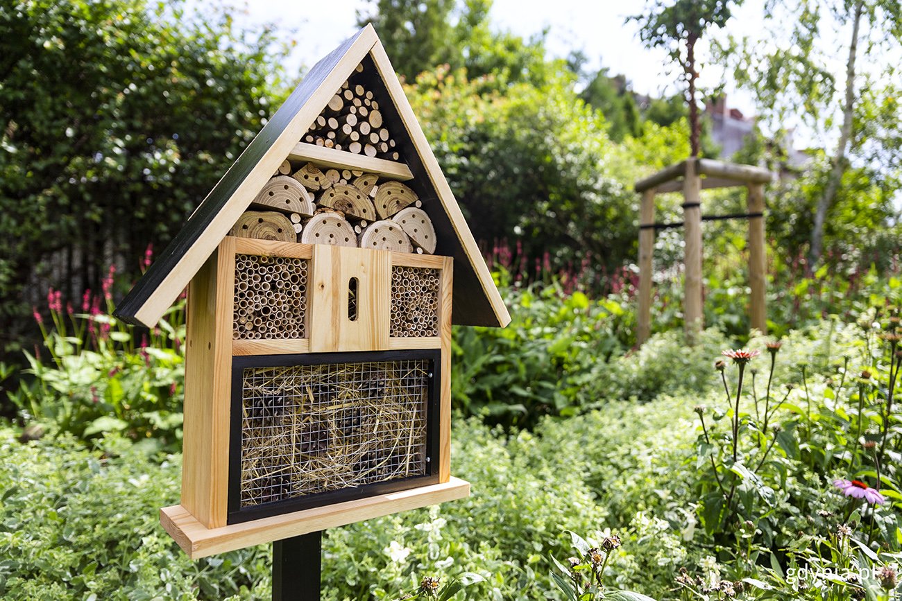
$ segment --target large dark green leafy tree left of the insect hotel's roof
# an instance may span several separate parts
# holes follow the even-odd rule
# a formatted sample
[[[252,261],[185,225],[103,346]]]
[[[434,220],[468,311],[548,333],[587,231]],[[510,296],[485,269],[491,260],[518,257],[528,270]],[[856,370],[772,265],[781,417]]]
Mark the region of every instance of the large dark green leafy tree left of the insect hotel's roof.
[[[0,350],[179,230],[272,111],[271,44],[179,2],[0,8]]]

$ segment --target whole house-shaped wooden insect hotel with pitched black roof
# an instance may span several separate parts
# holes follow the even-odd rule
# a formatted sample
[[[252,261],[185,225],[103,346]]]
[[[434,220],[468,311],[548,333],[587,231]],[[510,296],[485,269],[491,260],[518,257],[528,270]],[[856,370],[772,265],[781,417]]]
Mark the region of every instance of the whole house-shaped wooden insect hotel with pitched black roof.
[[[161,523],[190,557],[469,495],[451,325],[510,316],[371,26],[310,69],[116,314],[152,327],[186,286],[181,503]]]

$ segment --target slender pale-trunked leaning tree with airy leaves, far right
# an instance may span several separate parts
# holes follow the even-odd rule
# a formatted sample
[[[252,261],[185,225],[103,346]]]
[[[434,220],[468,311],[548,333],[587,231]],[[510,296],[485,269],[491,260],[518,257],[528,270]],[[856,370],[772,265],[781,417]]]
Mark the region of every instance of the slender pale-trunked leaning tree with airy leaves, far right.
[[[870,163],[868,170],[876,178],[875,183],[882,178],[897,181],[898,167],[892,158],[896,153],[890,147],[869,156],[870,150],[866,149],[874,148],[874,143],[869,142],[870,120],[862,120],[861,114],[867,111],[862,106],[867,97],[872,107],[890,107],[888,112],[879,113],[883,133],[870,131],[875,136],[871,142],[880,145],[880,139],[891,140],[892,132],[898,131],[899,114],[892,101],[896,91],[889,87],[880,90],[876,82],[897,77],[896,65],[881,62],[888,54],[881,50],[899,48],[902,5],[895,0],[771,1],[765,6],[764,16],[769,24],[768,40],[776,39],[778,43],[730,38],[719,45],[719,52],[732,65],[736,82],[755,94],[759,118],[768,124],[771,135],[779,137],[787,128],[803,124],[822,136],[824,147],[833,148],[828,162],[815,163],[815,168],[825,164],[827,172],[824,185],[818,187],[808,232],[807,269],[814,272],[823,260],[824,237],[830,229],[828,217],[843,196],[843,182],[857,181],[857,177],[847,177],[850,169],[861,173],[861,168]],[[844,30],[844,35],[849,36],[842,76],[834,75],[831,65],[837,43],[828,37],[833,30]],[[866,44],[868,57],[863,64],[864,73],[859,61],[862,43]],[[886,95],[883,99],[873,97],[880,92]],[[886,99],[890,99],[889,105],[884,102]],[[841,107],[838,115],[836,107]],[[888,205],[882,205],[878,213],[886,214],[887,209]],[[862,204],[861,210],[870,211],[870,207]]]

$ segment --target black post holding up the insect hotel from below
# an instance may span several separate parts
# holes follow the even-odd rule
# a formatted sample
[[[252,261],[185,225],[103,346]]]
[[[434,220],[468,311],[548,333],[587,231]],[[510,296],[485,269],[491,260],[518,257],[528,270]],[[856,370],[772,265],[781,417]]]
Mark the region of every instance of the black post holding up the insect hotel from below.
[[[319,601],[323,533],[272,542],[272,601]]]

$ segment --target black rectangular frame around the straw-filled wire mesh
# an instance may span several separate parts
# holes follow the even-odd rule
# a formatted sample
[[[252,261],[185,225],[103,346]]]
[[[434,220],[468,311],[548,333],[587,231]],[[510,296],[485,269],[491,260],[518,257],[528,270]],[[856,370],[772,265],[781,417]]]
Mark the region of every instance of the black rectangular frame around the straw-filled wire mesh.
[[[439,445],[441,412],[441,351],[425,349],[416,351],[364,351],[320,352],[299,355],[253,355],[232,358],[232,404],[229,419],[229,474],[227,524],[240,524],[262,517],[289,514],[302,509],[332,505],[366,496],[383,495],[409,488],[438,483],[438,466],[441,461]],[[426,475],[374,482],[360,487],[343,488],[313,495],[273,501],[251,507],[241,506],[241,446],[244,368],[281,368],[297,365],[331,365],[336,363],[364,363],[373,361],[428,360],[430,385],[426,406]]]

